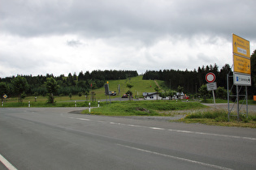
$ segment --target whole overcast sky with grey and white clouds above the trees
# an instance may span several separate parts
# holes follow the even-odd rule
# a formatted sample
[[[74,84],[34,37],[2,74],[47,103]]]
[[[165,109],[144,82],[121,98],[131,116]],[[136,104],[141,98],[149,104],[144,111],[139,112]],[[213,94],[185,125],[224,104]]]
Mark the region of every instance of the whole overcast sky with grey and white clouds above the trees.
[[[0,77],[232,66],[255,0],[0,0]]]

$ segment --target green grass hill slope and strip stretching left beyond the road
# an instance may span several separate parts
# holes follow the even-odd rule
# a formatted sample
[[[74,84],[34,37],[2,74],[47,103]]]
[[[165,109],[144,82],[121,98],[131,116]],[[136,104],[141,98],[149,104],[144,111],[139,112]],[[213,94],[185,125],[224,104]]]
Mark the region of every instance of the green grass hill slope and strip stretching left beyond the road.
[[[137,76],[137,77],[133,77],[133,78],[129,78],[129,79],[120,79],[120,80],[106,80],[109,82],[109,87],[110,87],[110,91],[116,91],[118,93],[118,87],[120,85],[120,94],[118,94],[117,96],[111,96],[111,98],[117,98],[119,96],[123,96],[124,93],[126,93],[129,89],[128,87],[126,87],[127,83],[132,84],[132,88],[131,91],[133,93],[133,97],[142,97],[143,92],[154,92],[154,87],[156,86],[156,84],[154,83],[154,80],[142,80],[142,75]],[[163,84],[163,81],[159,81],[159,84]],[[105,88],[101,87],[98,88],[96,90],[94,90],[95,92],[95,97],[94,100],[96,98],[96,100],[104,100],[106,99],[105,96]],[[91,91],[90,91],[91,94]],[[109,98],[107,96],[107,98]],[[91,96],[87,96],[85,97],[85,95],[83,96],[78,96],[78,95],[72,95],[72,99],[69,98],[69,96],[54,96],[54,100],[56,101],[56,103],[54,104],[56,105],[64,105],[63,102],[67,102],[70,104],[65,104],[65,105],[74,105],[72,104],[72,102],[74,103],[74,101],[78,101],[77,103],[80,103],[79,101],[83,100],[91,100]],[[9,97],[7,98],[7,100],[4,101],[4,106],[5,107],[24,107],[28,105],[28,101],[30,101],[32,106],[38,106],[38,107],[49,107],[50,104],[46,104],[47,101],[47,97],[46,96],[37,96],[37,102],[35,101],[35,96],[27,96],[25,97],[25,99],[23,100],[22,103],[18,102],[18,98],[17,97]],[[62,104],[59,104],[62,103]]]

